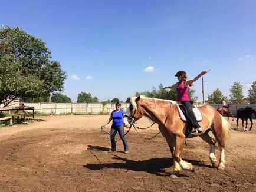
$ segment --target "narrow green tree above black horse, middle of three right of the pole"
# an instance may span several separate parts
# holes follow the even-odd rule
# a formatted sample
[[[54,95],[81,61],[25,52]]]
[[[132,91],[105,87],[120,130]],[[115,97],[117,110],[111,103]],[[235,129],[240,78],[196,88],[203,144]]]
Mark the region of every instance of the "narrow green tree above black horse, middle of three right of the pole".
[[[242,85],[240,82],[234,82],[234,84],[230,88],[230,101],[232,104],[243,104],[242,100],[244,96],[242,95]]]

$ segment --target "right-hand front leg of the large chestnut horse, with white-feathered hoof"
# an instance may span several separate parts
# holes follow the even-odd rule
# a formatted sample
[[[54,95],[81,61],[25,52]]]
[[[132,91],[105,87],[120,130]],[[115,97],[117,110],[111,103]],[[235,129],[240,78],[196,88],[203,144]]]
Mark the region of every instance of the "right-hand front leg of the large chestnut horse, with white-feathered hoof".
[[[176,135],[175,139],[175,161],[177,161],[183,170],[194,172],[195,169],[191,163],[183,161],[181,158],[182,148],[184,145],[185,135]]]

